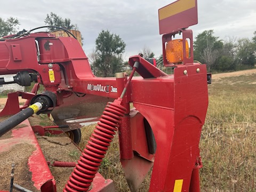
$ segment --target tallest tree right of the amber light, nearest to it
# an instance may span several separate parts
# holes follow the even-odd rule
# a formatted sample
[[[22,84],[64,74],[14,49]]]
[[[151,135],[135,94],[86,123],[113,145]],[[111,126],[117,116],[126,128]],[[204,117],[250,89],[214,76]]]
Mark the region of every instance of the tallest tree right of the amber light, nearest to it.
[[[196,36],[194,42],[194,59],[206,63],[207,68],[214,65],[223,43],[219,37],[213,36],[213,30],[205,30]]]

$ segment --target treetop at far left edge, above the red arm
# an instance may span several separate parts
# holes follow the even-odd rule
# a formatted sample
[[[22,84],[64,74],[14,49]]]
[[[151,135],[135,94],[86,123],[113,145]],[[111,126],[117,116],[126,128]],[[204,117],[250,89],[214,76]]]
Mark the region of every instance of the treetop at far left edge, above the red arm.
[[[6,20],[0,18],[0,37],[16,33],[19,25],[20,22],[17,18],[10,17]]]

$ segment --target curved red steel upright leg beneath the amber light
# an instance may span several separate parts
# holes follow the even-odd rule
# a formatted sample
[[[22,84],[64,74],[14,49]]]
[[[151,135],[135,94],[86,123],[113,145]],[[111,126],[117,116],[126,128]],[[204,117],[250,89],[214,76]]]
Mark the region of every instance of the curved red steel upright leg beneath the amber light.
[[[200,69],[199,74],[197,68]],[[164,81],[164,78],[159,80]],[[174,181],[178,179],[183,179],[182,191],[188,191],[191,172],[199,156],[198,143],[208,101],[206,67],[196,64],[180,66],[174,69],[174,77],[169,81],[172,84],[169,89],[158,86],[155,90],[163,89],[166,91],[164,94],[173,95],[169,100],[164,100],[161,106],[155,103],[148,105],[150,99],[142,101],[132,95],[133,105],[147,119],[156,139],[150,191],[173,190]],[[140,87],[145,87],[146,82],[146,79],[137,82],[136,87],[135,82],[132,83],[134,93]],[[152,82],[150,86],[153,85]]]

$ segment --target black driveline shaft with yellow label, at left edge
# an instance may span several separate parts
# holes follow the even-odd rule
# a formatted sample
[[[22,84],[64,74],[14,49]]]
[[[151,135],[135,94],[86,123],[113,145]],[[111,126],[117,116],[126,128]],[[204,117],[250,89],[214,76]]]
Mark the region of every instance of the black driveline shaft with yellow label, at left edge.
[[[31,115],[37,113],[40,109],[42,109],[42,107],[43,105],[41,102],[36,102],[28,108],[20,111],[19,113],[5,119],[3,122],[0,123],[0,137],[13,129],[13,127],[19,125]]]

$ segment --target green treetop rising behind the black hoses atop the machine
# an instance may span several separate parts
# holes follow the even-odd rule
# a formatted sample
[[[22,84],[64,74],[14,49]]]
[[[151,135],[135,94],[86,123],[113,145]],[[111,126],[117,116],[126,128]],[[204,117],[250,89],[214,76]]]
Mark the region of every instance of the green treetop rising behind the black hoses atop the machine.
[[[67,30],[70,29],[75,29],[78,30],[78,27],[76,24],[71,24],[70,19],[65,18],[62,19],[59,15],[51,12],[50,14],[47,14],[45,20],[44,20],[45,25],[49,26],[57,26],[57,27],[62,27]],[[49,28],[50,31],[58,30],[57,28]]]

